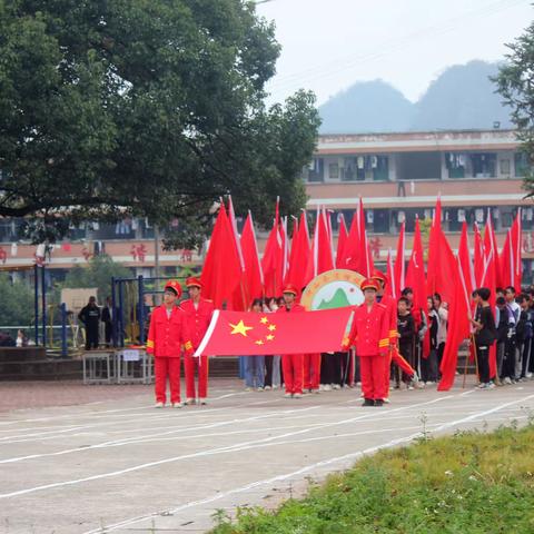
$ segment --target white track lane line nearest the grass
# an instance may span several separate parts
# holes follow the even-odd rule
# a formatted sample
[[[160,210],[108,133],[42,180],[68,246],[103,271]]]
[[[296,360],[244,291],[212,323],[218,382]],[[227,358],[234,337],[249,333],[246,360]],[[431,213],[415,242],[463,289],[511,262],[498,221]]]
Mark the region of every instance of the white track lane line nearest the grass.
[[[442,429],[449,428],[451,426],[456,426],[456,425],[462,424],[462,423],[467,423],[467,422],[474,421],[474,418],[484,417],[485,415],[490,415],[490,414],[493,414],[495,412],[498,412],[500,409],[502,409],[504,407],[507,407],[507,406],[513,405],[513,404],[517,404],[517,402],[525,402],[525,400],[528,400],[533,397],[534,397],[534,395],[528,395],[527,397],[524,397],[520,400],[512,402],[512,403],[505,403],[503,405],[496,406],[496,407],[491,408],[488,411],[479,412],[478,414],[474,414],[469,417],[463,417],[461,419],[446,423],[445,425],[442,425],[442,426],[438,426],[437,428],[434,428],[433,432],[439,432]],[[130,525],[134,525],[136,523],[140,523],[141,521],[158,517],[160,515],[175,515],[179,512],[182,512],[184,510],[192,508],[192,507],[200,506],[200,505],[211,504],[216,501],[220,501],[220,500],[226,498],[230,495],[249,492],[250,490],[254,490],[258,486],[270,485],[270,484],[275,484],[275,483],[278,483],[278,482],[284,482],[284,481],[287,481],[287,479],[290,479],[290,478],[295,478],[297,476],[304,475],[305,473],[308,473],[308,472],[314,471],[314,469],[319,468],[319,467],[326,467],[326,466],[330,466],[330,465],[337,464],[337,463],[345,463],[347,461],[354,461],[354,459],[360,458],[362,456],[376,453],[377,451],[380,451],[383,448],[390,448],[390,447],[394,447],[396,445],[400,445],[403,443],[409,443],[413,439],[415,439],[416,437],[419,437],[421,435],[422,435],[422,433],[417,432],[417,433],[412,434],[412,435],[406,436],[406,437],[392,439],[392,441],[383,443],[380,445],[375,445],[373,447],[368,447],[364,451],[358,451],[358,452],[355,452],[355,453],[346,454],[344,456],[337,456],[337,457],[332,457],[332,458],[324,459],[324,461],[320,461],[320,462],[316,462],[314,464],[309,464],[305,467],[301,467],[300,469],[294,471],[293,473],[286,473],[285,475],[277,475],[277,476],[274,476],[271,478],[266,478],[266,479],[263,479],[263,481],[253,482],[250,484],[247,484],[246,486],[229,490],[227,492],[217,493],[216,495],[211,495],[210,497],[206,497],[206,498],[202,498],[202,500],[199,500],[199,501],[192,501],[192,502],[182,504],[182,505],[180,505],[176,508],[167,510],[165,512],[155,512],[152,514],[147,514],[147,515],[144,515],[144,516],[132,517],[132,518],[129,518],[129,520],[121,521],[120,523],[115,523],[112,525],[106,525],[103,527],[87,531],[83,534],[105,534],[105,533],[108,533],[108,532],[111,532],[111,531],[116,531],[118,528],[123,528],[126,526],[130,526]]]

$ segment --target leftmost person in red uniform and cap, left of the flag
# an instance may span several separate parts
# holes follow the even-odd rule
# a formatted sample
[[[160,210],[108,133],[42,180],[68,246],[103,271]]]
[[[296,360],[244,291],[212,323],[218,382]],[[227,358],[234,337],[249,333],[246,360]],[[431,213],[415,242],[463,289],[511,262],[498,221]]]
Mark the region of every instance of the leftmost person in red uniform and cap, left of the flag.
[[[182,347],[186,355],[192,355],[192,343],[186,315],[176,306],[176,300],[180,295],[180,284],[177,280],[167,281],[164,304],[158,306],[150,317],[147,353],[154,356],[157,408],[165,406],[167,378],[169,379],[171,406],[174,408],[181,408],[182,406],[180,399],[180,356]]]

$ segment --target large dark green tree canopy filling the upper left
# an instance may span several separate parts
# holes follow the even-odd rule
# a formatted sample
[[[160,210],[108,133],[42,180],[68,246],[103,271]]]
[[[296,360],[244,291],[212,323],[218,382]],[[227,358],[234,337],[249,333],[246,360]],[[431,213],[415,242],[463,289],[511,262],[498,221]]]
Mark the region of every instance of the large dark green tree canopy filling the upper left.
[[[177,217],[190,245],[228,192],[296,211],[319,119],[266,108],[278,53],[244,0],[0,0],[0,216]]]

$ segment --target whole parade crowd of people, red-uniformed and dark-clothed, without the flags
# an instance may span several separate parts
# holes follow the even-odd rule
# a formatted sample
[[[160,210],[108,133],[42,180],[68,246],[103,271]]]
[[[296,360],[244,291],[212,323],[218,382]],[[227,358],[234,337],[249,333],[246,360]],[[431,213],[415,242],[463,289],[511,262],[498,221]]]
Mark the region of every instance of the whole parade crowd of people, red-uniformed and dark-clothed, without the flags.
[[[364,304],[355,307],[352,330],[344,349],[328,354],[285,354],[243,356],[247,390],[284,387],[286,397],[340,389],[362,385],[364,406],[388,403],[389,389],[408,390],[432,386],[441,379],[441,364],[447,342],[448,306],[438,294],[427,298],[426,310],[414,305],[409,287],[396,300],[385,294],[387,278],[375,271],[362,284]],[[207,332],[212,303],[201,298],[201,284],[186,281],[190,298],[176,304],[181,286],[169,280],[164,305],[154,314],[147,339],[147,352],[156,358],[157,406],[166,402],[169,379],[171,404],[180,407],[180,346],[185,346],[187,399],[185,404],[206,404],[208,359],[192,357]],[[256,299],[251,312],[257,314],[301,313],[299,291],[286,285],[280,298]],[[534,372],[534,288],[520,295],[513,287],[497,288],[496,306],[492,291],[482,287],[473,293],[469,335],[481,388],[513,384],[527,379]],[[176,316],[176,317],[175,317]],[[187,338],[187,339],[186,339]],[[345,342],[344,342],[345,343]],[[495,356],[495,359],[493,357]],[[492,372],[491,362],[495,362]],[[165,364],[165,365],[164,365]],[[172,365],[171,365],[172,364]],[[197,369],[196,369],[197,368]],[[159,369],[159,370],[158,370]],[[194,376],[198,370],[198,397]]]

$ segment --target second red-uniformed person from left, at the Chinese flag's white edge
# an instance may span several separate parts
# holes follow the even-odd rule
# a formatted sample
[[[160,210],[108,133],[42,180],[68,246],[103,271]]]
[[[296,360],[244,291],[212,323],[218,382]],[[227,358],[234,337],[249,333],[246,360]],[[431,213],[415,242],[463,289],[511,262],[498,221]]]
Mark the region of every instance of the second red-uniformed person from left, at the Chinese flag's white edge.
[[[188,278],[186,286],[189,291],[189,298],[184,300],[180,306],[186,314],[189,330],[192,336],[192,347],[196,350],[214,315],[214,303],[201,297],[202,284],[198,278]],[[186,370],[186,404],[196,403],[195,367],[198,368],[198,400],[200,404],[207,404],[208,357],[200,356],[200,358],[195,358],[192,356],[186,356],[184,366]]]

